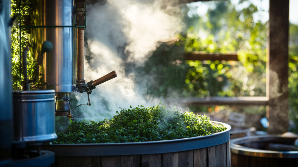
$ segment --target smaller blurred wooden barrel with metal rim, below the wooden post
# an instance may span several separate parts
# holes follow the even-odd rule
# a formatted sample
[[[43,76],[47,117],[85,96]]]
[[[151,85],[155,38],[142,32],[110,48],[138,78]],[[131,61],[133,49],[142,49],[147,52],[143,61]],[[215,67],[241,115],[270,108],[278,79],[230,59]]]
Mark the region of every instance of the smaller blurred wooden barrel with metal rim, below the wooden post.
[[[271,151],[274,144],[294,144],[281,135],[249,136],[231,140],[232,167],[298,166],[298,151]]]

